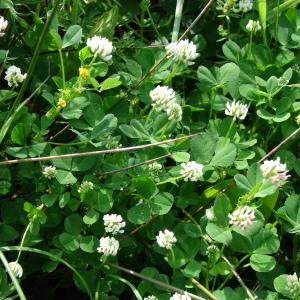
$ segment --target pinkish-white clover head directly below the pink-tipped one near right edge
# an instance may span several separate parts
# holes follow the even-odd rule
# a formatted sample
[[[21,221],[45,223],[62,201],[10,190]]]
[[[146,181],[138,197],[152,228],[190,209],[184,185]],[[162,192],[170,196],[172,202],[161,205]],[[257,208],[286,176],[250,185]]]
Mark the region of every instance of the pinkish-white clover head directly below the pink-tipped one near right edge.
[[[235,209],[232,214],[228,215],[229,224],[247,229],[255,221],[255,211],[252,207],[242,206]]]

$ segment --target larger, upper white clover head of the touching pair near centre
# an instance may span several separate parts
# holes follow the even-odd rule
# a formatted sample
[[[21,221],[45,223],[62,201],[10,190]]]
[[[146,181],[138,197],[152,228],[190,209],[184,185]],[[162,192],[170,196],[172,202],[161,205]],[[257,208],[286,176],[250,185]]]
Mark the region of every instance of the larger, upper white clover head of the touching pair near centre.
[[[176,102],[175,91],[167,86],[158,85],[149,95],[153,102],[152,106],[156,111],[167,110]]]

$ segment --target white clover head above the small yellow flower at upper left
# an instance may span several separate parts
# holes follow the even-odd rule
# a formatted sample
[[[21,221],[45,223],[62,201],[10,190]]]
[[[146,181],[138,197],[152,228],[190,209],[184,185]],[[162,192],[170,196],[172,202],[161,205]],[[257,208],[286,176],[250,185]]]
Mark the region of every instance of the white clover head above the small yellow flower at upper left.
[[[107,38],[101,36],[93,36],[87,39],[87,46],[91,51],[101,57],[104,61],[108,61],[112,58],[113,44]]]

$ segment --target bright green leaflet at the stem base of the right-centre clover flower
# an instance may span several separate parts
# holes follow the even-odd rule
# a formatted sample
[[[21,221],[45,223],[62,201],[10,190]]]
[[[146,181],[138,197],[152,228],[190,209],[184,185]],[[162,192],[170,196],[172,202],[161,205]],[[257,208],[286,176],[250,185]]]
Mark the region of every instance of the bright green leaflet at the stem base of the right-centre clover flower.
[[[233,164],[236,157],[236,146],[227,142],[224,144],[224,139],[220,139],[216,146],[216,152],[213,156],[210,165],[218,167],[229,167]]]

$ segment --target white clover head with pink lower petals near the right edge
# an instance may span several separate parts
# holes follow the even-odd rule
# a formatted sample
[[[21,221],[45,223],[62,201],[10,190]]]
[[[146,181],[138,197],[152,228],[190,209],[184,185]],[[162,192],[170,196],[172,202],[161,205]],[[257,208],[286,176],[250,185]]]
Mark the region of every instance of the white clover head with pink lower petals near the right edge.
[[[276,184],[279,180],[287,180],[290,175],[288,172],[286,164],[280,163],[280,158],[277,157],[276,160],[265,160],[260,166],[260,170],[265,180],[271,180],[273,184]]]

